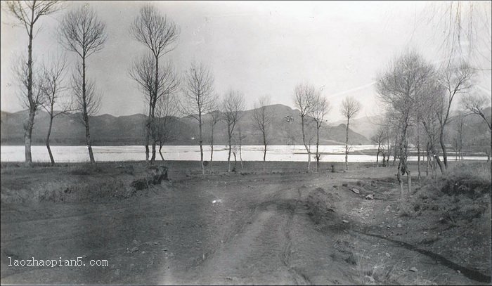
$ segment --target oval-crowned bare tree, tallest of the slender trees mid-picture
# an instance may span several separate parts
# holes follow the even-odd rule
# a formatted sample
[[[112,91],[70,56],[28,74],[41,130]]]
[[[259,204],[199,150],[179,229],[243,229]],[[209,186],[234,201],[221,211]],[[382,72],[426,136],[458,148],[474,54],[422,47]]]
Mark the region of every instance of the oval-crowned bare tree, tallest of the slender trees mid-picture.
[[[202,116],[214,108],[214,75],[203,63],[193,61],[186,70],[183,83],[182,112],[198,120],[198,143],[200,143],[200,167],[203,165]]]

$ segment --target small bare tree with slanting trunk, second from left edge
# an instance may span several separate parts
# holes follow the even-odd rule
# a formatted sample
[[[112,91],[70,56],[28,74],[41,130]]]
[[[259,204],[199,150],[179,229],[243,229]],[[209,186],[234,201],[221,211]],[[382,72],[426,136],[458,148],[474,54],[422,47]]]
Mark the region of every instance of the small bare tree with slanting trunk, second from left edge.
[[[44,74],[41,86],[43,100],[41,101],[41,105],[49,115],[48,134],[46,134],[46,149],[48,149],[51,165],[55,164],[55,159],[53,158],[53,153],[51,152],[49,143],[53,119],[55,119],[58,115],[63,115],[74,110],[72,100],[70,100],[68,96],[63,96],[63,93],[67,91],[67,87],[63,82],[66,63],[67,61],[65,58],[60,58],[58,60],[54,60],[48,65],[45,65],[43,69]]]

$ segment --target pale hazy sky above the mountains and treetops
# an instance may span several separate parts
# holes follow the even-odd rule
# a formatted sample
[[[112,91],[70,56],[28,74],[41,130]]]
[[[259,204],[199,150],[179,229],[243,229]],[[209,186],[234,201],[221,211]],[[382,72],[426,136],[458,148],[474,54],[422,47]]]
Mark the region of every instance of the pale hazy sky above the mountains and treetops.
[[[82,3],[84,4],[84,3]],[[143,2],[91,1],[106,22],[108,41],[88,61],[89,77],[103,94],[100,114],[145,113],[141,91],[129,77],[132,60],[145,52],[131,38],[129,26]],[[181,29],[176,49],[164,56],[179,71],[191,60],[209,65],[215,91],[233,88],[245,94],[247,107],[263,95],[271,103],[294,107],[293,90],[305,81],[322,89],[332,105],[329,121],[341,119],[339,103],[354,96],[363,104],[358,115],[379,112],[374,89],[377,72],[408,48],[429,60],[439,59],[439,32],[423,11],[439,4],[429,2],[163,2],[153,4]],[[65,11],[80,3],[67,3]],[[426,10],[427,9],[427,10]],[[41,18],[34,39],[37,63],[63,53],[55,27],[65,13]],[[13,27],[1,12],[1,110],[21,108],[18,84],[11,66],[27,53],[27,34]],[[66,52],[75,64],[73,53]],[[70,76],[67,76],[69,79]],[[490,72],[481,89],[491,94]]]

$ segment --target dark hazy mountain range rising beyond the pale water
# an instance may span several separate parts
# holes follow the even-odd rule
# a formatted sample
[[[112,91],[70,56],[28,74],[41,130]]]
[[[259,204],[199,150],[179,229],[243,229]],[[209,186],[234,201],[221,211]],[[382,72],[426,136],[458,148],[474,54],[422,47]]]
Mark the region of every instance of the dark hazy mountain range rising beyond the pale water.
[[[261,145],[261,133],[255,127],[253,120],[254,110],[241,112],[240,129],[242,144]],[[302,129],[300,124],[300,112],[285,105],[268,105],[266,112],[271,116],[268,129],[268,144],[289,145],[302,144]],[[292,117],[287,122],[286,117]],[[24,143],[23,122],[27,118],[27,111],[1,112],[1,144],[22,145]],[[60,115],[53,122],[51,132],[51,145],[85,145],[85,131],[80,120],[80,113]],[[145,115],[136,114],[115,117],[112,115],[96,115],[89,119],[91,126],[91,140],[93,145],[141,145],[145,138]],[[209,114],[203,116],[204,144],[209,143],[210,126]],[[198,145],[198,121],[193,117],[172,117],[174,130],[172,139],[167,145]],[[306,120],[312,122],[311,118]],[[366,120],[367,122],[367,120]],[[34,129],[32,131],[32,144],[44,145],[46,132],[48,130],[49,116],[44,111],[39,111],[35,117]],[[352,124],[351,124],[352,126]],[[354,124],[357,126],[357,124]],[[226,145],[227,132],[224,121],[216,125],[214,131],[214,144]],[[346,126],[343,123],[328,124],[323,122],[320,131],[320,144],[339,145],[344,144]],[[236,127],[236,132],[238,127]],[[316,142],[313,124],[307,128],[308,140]],[[369,135],[367,132],[365,134]],[[370,144],[367,136],[349,130],[349,142],[353,145]]]

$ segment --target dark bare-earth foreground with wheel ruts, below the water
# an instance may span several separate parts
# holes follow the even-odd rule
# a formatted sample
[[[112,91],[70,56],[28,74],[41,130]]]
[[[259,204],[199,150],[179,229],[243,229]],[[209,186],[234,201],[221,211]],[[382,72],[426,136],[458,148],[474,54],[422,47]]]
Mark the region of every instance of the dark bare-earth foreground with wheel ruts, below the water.
[[[214,164],[202,177],[196,162],[165,162],[170,181],[138,192],[143,163],[2,165],[0,282],[490,285],[490,192],[460,220],[439,197],[420,204],[416,178],[402,212],[394,168]],[[8,266],[77,256],[109,265]]]

